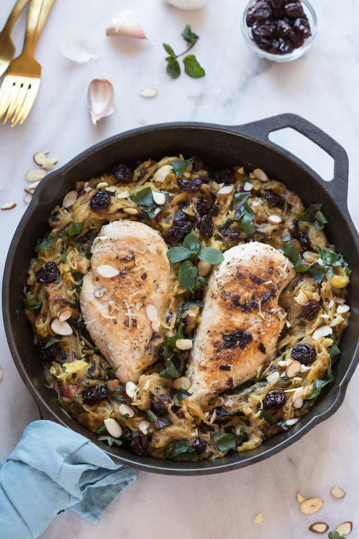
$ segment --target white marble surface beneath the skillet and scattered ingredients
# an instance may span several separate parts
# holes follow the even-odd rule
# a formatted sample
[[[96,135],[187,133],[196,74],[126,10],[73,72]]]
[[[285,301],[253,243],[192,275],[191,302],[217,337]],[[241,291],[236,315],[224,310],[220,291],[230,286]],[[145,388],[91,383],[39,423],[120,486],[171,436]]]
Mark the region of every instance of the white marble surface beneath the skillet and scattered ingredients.
[[[0,3],[0,24],[13,2]],[[0,212],[1,273],[12,234],[25,210],[24,175],[33,166],[34,152],[50,149],[62,165],[105,137],[163,121],[234,125],[283,112],[305,116],[348,151],[349,210],[359,225],[359,5],[352,0],[313,0],[313,4],[319,30],[312,49],[293,63],[276,64],[259,60],[245,45],[240,30],[244,0],[212,0],[205,9],[194,12],[179,11],[161,0],[55,2],[36,53],[43,78],[33,110],[22,127],[0,127],[0,203],[17,203],[15,209]],[[122,9],[133,9],[152,45],[104,35],[107,22]],[[350,13],[348,19],[343,10]],[[24,20],[19,20],[13,34],[17,47],[22,44]],[[100,59],[76,65],[61,56],[60,36],[76,21],[93,32],[100,45]],[[194,53],[207,74],[198,80],[182,74],[173,81],[165,73],[161,43],[170,43],[179,51],[183,46],[180,32],[187,23],[200,35]],[[94,127],[86,93],[90,80],[98,77],[112,81],[116,103],[115,113]],[[139,91],[149,86],[158,89],[158,96],[145,100]],[[313,148],[303,148],[308,161],[317,160]],[[39,414],[12,363],[2,327],[0,332],[3,461],[24,427]],[[139,472],[137,481],[119,496],[97,527],[68,511],[55,518],[41,537],[290,539],[311,536],[308,526],[319,520],[327,521],[331,529],[352,520],[351,537],[358,537],[358,383],[356,372],[340,410],[269,460],[236,472],[203,477]],[[347,490],[344,500],[330,496],[329,489],[334,485]],[[301,514],[295,500],[298,489],[304,496],[324,498],[319,513]],[[255,524],[258,512],[263,514],[263,522]]]

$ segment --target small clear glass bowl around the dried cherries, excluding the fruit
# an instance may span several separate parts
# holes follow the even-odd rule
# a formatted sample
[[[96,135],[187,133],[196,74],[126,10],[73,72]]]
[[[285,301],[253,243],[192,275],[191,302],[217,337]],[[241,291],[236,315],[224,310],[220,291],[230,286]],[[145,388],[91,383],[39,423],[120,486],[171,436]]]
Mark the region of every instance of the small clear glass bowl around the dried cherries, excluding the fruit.
[[[288,52],[287,54],[271,54],[270,52],[262,51],[262,49],[259,49],[257,43],[252,38],[252,29],[247,26],[247,22],[245,20],[247,11],[249,8],[251,8],[252,5],[256,3],[256,0],[249,0],[249,2],[245,5],[243,13],[242,13],[242,19],[241,19],[241,28],[243,32],[243,36],[245,38],[245,42],[249,46],[249,48],[259,56],[259,58],[266,58],[267,60],[272,60],[274,62],[289,62],[291,60],[296,60],[300,56],[302,56],[307,50],[312,46],[313,39],[316,34],[316,15],[315,11],[313,9],[313,6],[311,3],[308,2],[308,0],[301,0],[301,4],[303,6],[304,12],[306,16],[308,17],[308,23],[311,27],[312,35],[307,37],[304,40],[304,43],[301,47],[298,47],[298,49],[294,49],[292,52]]]

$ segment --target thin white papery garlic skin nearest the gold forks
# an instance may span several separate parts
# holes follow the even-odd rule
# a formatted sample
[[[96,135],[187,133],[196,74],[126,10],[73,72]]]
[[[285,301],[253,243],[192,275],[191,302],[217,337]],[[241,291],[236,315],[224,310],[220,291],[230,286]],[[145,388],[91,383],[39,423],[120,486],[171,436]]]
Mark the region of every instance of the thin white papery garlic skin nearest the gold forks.
[[[78,64],[100,58],[100,51],[93,34],[80,23],[69,26],[65,31],[60,39],[60,52]]]

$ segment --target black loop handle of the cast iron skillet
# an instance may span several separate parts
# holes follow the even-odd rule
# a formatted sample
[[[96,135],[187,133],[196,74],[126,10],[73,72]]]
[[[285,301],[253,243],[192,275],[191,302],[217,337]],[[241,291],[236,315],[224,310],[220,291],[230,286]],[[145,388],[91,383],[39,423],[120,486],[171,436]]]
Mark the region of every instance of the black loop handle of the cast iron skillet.
[[[289,151],[285,150],[278,144],[269,140],[268,135],[272,131],[278,129],[284,129],[285,127],[292,127],[302,135],[305,135],[308,139],[318,144],[320,148],[325,150],[334,160],[334,176],[329,182],[326,182],[321,178],[314,170],[303,163],[299,157],[293,156]],[[278,116],[271,116],[271,118],[265,118],[264,120],[258,120],[256,122],[244,123],[242,126],[234,126],[234,130],[243,135],[249,135],[255,137],[266,144],[270,144],[274,148],[280,149],[283,153],[290,155],[301,166],[305,166],[313,176],[325,187],[329,194],[344,208],[347,208],[348,199],[348,175],[349,175],[349,161],[348,155],[344,148],[340,146],[332,137],[327,135],[324,131],[316,127],[313,123],[308,122],[297,114],[278,114]]]

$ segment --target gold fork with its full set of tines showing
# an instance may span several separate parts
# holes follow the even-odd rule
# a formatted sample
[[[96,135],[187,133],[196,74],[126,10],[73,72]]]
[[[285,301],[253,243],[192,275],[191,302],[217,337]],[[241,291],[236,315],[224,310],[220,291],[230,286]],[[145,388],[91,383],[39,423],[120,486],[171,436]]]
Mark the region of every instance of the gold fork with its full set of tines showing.
[[[23,51],[12,60],[0,88],[0,119],[6,113],[4,125],[20,125],[29,114],[40,86],[41,66],[34,59],[37,40],[43,30],[54,0],[30,0]]]

